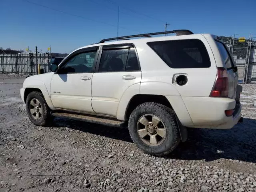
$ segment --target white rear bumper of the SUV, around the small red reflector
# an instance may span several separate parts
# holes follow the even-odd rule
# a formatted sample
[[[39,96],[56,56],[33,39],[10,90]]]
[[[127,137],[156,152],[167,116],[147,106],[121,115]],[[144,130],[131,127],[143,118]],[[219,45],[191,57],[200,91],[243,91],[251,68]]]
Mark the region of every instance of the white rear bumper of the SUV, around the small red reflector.
[[[230,129],[241,118],[241,104],[230,98],[183,97],[194,128]],[[225,110],[235,109],[233,116]]]

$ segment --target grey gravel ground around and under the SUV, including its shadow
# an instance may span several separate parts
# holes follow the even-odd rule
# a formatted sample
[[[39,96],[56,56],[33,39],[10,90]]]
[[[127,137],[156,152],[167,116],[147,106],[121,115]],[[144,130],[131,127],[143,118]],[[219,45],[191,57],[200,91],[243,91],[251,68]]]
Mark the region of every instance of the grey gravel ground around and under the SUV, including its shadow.
[[[256,86],[243,85],[244,123],[191,129],[169,156],[144,154],[128,130],[55,118],[34,126],[24,77],[0,75],[0,191],[254,191]],[[7,83],[7,84],[6,84]]]

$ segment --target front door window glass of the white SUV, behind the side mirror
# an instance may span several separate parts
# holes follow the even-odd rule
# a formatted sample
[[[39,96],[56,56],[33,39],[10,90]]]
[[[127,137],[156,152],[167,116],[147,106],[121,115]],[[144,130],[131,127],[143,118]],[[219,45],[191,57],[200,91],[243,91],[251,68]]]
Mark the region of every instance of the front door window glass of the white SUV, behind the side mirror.
[[[94,70],[96,52],[80,53],[68,60],[60,69],[61,73],[86,73]],[[59,71],[58,71],[59,72]]]

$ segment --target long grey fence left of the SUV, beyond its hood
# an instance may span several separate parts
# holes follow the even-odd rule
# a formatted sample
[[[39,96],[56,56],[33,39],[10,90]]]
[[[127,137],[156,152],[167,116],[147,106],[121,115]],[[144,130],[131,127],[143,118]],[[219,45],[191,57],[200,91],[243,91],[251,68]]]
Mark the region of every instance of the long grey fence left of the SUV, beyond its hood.
[[[37,74],[38,64],[49,72],[50,63],[50,54],[0,54],[0,73]]]

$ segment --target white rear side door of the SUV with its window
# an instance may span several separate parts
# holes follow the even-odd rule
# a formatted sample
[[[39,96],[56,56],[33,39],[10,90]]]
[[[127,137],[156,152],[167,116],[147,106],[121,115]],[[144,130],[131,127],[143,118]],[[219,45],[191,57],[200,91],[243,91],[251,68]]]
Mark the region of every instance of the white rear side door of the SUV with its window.
[[[125,90],[140,81],[140,65],[132,44],[103,46],[92,78],[94,112],[116,117]]]

